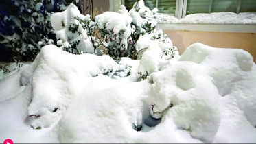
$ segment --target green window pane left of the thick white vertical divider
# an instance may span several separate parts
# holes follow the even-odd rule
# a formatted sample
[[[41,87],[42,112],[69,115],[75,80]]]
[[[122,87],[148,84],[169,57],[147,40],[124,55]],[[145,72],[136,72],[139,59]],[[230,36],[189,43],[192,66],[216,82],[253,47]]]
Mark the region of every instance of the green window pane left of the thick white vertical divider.
[[[130,10],[135,3],[135,0],[125,0],[124,5],[126,6],[127,10]],[[145,5],[153,10],[153,8],[159,9],[159,13],[165,14],[174,14],[175,7],[176,7],[176,0],[144,0]]]

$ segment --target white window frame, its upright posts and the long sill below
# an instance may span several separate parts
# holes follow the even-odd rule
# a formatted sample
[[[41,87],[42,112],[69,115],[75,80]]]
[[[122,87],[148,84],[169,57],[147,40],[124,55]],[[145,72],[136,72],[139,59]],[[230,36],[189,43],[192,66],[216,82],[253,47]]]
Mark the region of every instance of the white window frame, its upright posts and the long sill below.
[[[117,12],[119,10],[119,5],[124,5],[125,0],[109,0],[110,11]],[[237,13],[239,13],[242,0],[239,8],[237,8]],[[211,0],[211,5],[209,5],[209,11],[211,12],[213,0]],[[187,0],[176,0],[176,11],[174,16],[177,19],[185,18],[187,13]],[[198,32],[236,32],[236,33],[256,33],[255,24],[245,25],[245,24],[202,24],[202,23],[158,23],[156,25],[157,29],[163,30],[185,30],[185,31],[198,31]]]

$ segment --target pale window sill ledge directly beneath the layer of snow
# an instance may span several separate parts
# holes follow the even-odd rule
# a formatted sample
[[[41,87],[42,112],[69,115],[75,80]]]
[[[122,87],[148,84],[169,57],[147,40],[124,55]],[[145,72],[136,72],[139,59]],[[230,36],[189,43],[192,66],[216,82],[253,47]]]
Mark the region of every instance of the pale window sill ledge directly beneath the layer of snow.
[[[183,23],[158,23],[156,29],[187,30],[200,32],[242,32],[256,33],[256,25],[244,24],[183,24]]]

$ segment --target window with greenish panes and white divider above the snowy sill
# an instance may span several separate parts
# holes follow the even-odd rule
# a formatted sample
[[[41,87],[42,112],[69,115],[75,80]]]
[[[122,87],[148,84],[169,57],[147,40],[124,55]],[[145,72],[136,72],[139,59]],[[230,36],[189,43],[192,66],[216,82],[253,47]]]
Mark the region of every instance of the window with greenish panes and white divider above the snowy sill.
[[[135,0],[124,0],[128,10]],[[211,12],[256,12],[256,0],[144,0],[150,10],[158,8],[159,13],[171,14],[178,19],[188,14]]]

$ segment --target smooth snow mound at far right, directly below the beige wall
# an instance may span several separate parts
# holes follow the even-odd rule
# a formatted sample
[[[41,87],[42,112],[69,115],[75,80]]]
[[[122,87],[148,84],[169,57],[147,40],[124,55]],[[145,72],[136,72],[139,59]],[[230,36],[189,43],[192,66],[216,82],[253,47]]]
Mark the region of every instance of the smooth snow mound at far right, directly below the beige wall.
[[[213,78],[218,94],[232,97],[251,125],[256,125],[256,71],[250,53],[195,43],[186,49],[180,61],[191,61],[205,67],[204,71]]]

